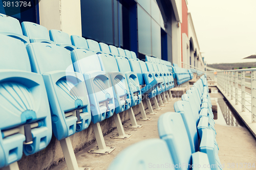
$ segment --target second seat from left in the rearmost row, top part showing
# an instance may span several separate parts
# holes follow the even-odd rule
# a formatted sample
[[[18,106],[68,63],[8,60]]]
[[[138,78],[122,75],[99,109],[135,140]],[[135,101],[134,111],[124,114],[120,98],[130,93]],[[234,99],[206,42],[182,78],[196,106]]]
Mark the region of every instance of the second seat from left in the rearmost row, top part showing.
[[[23,35],[29,37],[30,42],[45,42],[56,45],[50,40],[49,32],[44,26],[40,26],[33,22],[22,22]]]

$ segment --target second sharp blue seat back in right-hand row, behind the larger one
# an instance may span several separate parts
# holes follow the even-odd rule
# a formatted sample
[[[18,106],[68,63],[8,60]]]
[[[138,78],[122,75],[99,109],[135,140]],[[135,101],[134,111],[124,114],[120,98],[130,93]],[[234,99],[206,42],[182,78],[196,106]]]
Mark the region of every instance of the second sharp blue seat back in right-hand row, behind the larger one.
[[[180,112],[184,125],[187,130],[188,139],[190,142],[191,152],[198,151],[198,135],[197,124],[194,120],[192,109],[187,101],[177,101],[174,104],[175,112]]]

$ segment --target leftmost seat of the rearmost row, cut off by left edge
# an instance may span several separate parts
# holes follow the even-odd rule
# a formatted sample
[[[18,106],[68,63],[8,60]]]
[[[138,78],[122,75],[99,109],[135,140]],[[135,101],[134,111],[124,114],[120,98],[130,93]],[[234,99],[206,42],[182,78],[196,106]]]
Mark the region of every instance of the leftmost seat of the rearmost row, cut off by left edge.
[[[22,34],[22,28],[16,18],[0,13],[0,34],[7,35],[24,42],[30,43],[29,38]]]

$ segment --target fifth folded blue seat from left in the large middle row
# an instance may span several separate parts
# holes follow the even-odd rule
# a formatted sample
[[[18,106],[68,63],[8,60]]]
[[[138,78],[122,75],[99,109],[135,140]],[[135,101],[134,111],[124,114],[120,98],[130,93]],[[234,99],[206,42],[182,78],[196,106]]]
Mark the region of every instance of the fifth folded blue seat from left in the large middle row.
[[[131,94],[131,107],[141,103],[142,96],[140,90],[140,83],[136,72],[131,70],[129,61],[124,57],[116,57],[116,62],[120,72],[123,72],[126,79],[129,80],[129,90]]]

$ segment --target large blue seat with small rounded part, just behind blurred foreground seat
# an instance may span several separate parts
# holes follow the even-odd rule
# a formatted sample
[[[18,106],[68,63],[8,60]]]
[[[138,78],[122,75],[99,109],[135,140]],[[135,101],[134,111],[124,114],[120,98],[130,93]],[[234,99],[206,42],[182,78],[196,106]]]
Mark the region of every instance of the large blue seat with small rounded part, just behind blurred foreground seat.
[[[158,119],[158,133],[160,138],[167,143],[177,169],[194,169],[191,165],[209,164],[207,154],[191,152],[187,131],[180,113],[167,112],[161,115]]]

